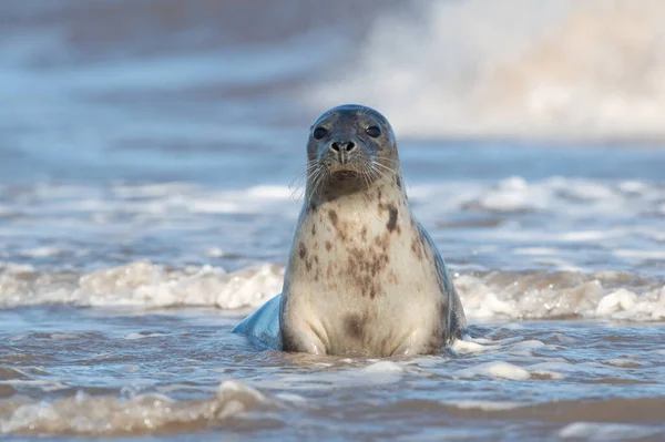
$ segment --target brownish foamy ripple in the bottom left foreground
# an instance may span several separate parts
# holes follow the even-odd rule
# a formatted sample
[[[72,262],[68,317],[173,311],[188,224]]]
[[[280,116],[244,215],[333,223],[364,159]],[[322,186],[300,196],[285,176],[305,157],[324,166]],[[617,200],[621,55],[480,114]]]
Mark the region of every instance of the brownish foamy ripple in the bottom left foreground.
[[[184,431],[223,425],[249,411],[274,410],[282,401],[237,381],[222,383],[216,395],[197,401],[175,401],[163,394],[140,394],[130,400],[115,397],[75,397],[52,402],[13,401],[0,418],[0,433],[42,435],[152,434],[165,428]],[[11,410],[13,408],[13,410]]]

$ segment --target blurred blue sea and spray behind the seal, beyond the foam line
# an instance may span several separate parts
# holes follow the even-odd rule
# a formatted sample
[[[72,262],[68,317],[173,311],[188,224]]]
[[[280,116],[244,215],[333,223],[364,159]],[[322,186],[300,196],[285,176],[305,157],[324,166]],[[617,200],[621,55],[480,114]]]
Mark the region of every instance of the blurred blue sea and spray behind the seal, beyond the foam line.
[[[661,287],[661,0],[3,0],[0,54],[6,298],[127,265],[278,291],[309,125],[348,102],[453,269]]]

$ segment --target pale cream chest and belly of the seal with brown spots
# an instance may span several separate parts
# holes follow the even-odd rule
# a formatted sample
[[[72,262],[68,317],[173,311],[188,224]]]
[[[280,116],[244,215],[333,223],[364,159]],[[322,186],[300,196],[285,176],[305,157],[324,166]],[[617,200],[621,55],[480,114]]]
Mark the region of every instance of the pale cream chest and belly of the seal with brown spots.
[[[431,257],[411,249],[411,222],[402,202],[372,207],[356,197],[304,216],[284,288],[284,323],[295,330],[285,336],[308,331],[330,354],[390,356],[415,341],[420,352],[440,348],[447,302],[436,296]]]

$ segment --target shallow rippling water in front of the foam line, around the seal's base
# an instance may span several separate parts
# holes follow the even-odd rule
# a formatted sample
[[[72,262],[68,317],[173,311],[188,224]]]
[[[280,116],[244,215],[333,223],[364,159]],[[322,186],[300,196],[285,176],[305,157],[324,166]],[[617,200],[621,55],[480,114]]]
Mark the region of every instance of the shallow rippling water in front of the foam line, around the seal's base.
[[[211,309],[1,312],[1,430],[254,439],[656,438],[662,325],[475,325],[403,360],[259,352]],[[9,331],[11,330],[11,331]],[[607,439],[607,438],[605,438]]]

